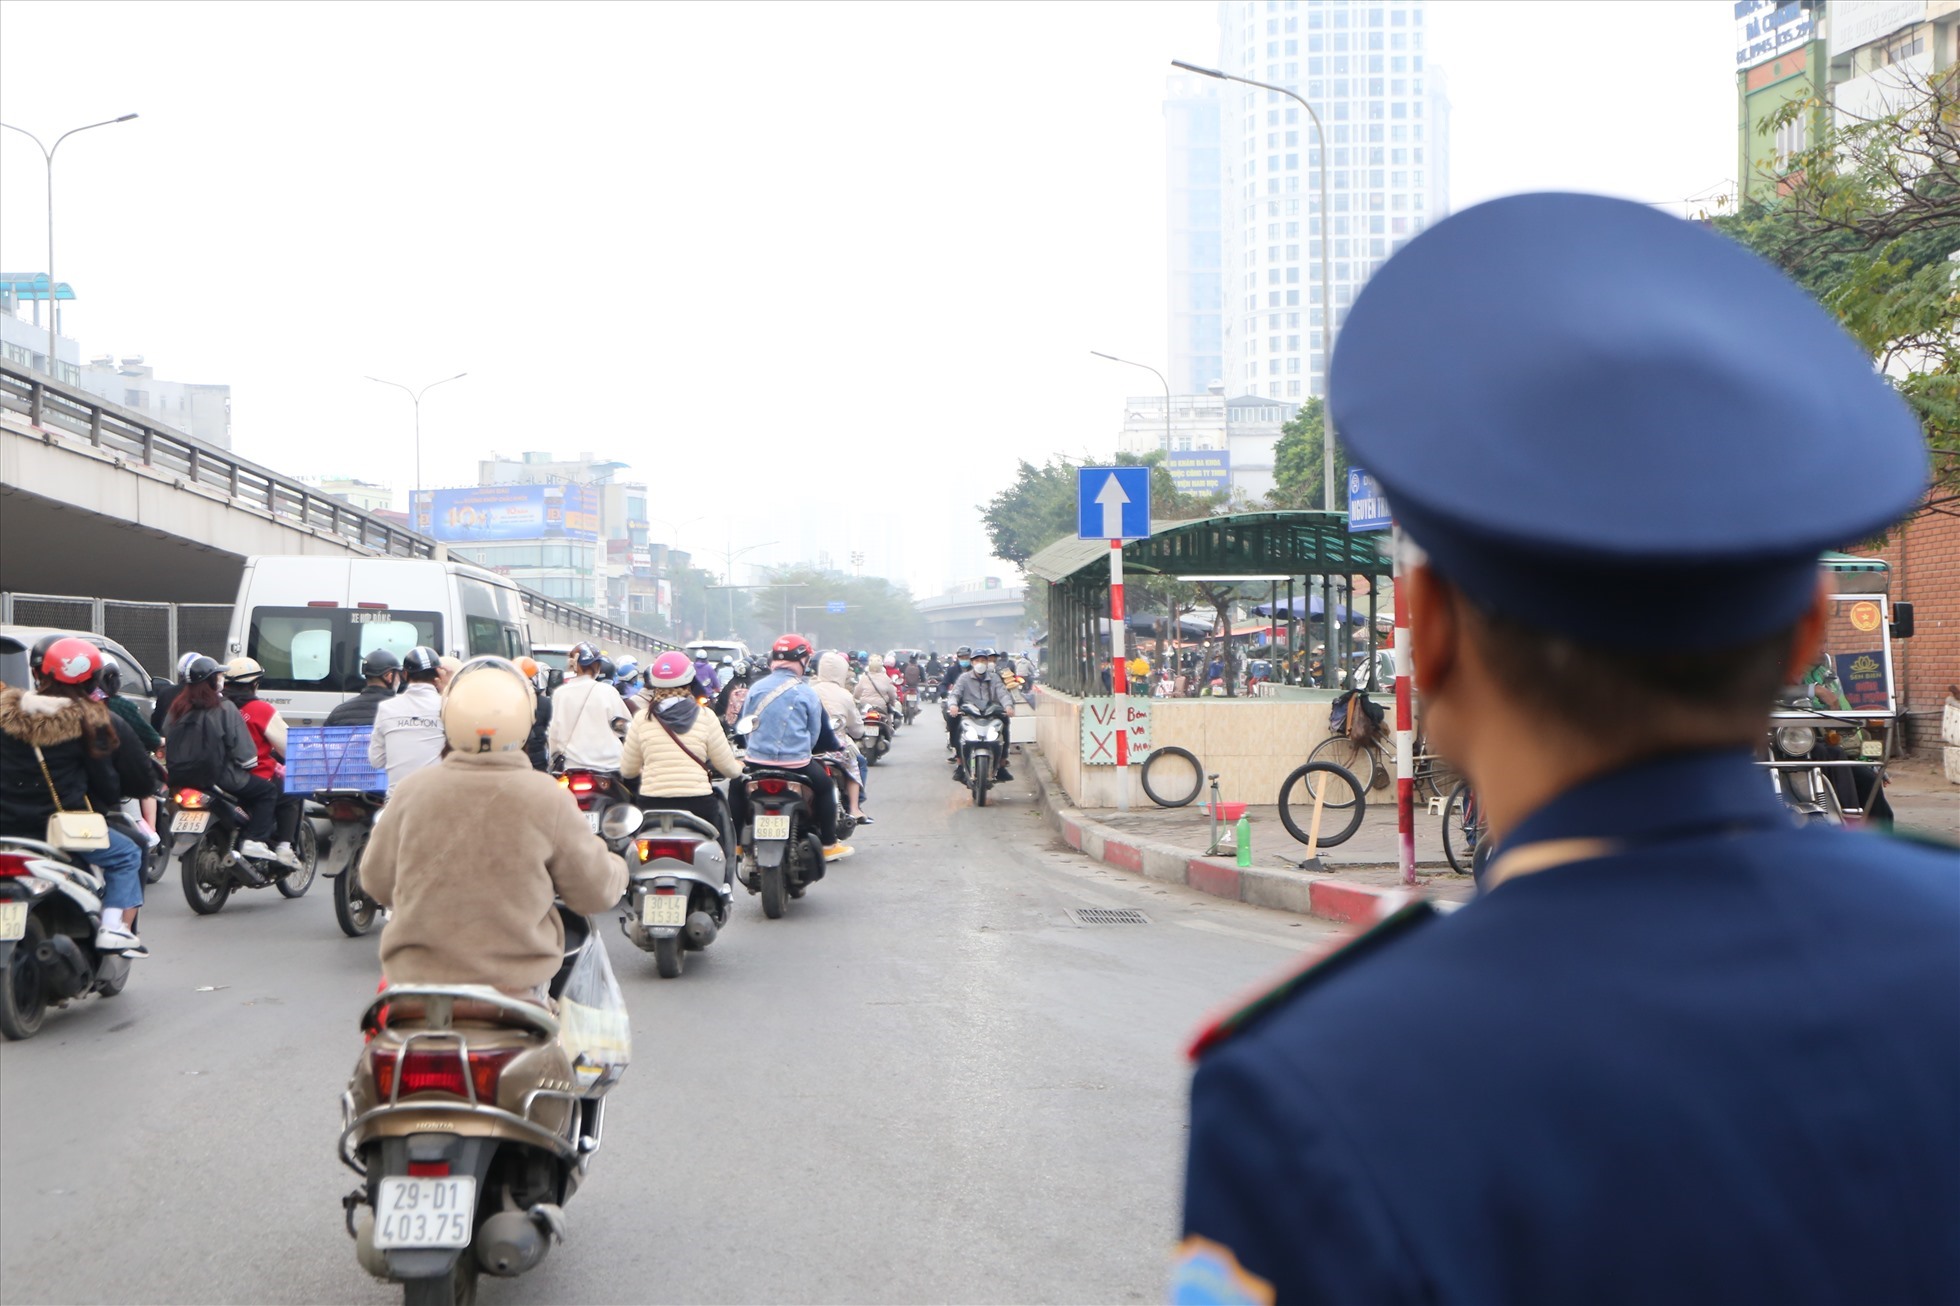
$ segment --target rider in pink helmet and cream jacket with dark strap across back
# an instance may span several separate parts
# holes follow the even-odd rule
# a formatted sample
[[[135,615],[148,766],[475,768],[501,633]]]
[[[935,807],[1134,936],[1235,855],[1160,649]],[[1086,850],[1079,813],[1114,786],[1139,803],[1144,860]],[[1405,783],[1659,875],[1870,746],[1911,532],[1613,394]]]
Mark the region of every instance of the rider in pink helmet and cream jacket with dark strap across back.
[[[700,816],[721,831],[727,865],[735,865],[735,826],[713,779],[735,779],[741,763],[721,722],[694,698],[694,665],[686,653],[662,653],[647,667],[645,712],[625,731],[619,775],[645,800],[643,808],[672,808]]]

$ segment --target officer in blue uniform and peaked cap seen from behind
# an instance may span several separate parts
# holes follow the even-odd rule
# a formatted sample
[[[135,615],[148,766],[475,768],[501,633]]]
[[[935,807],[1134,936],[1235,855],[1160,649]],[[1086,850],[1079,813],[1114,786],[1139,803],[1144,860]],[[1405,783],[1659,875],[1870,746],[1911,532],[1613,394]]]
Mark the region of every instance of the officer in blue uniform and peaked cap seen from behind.
[[[1911,412],[1770,265],[1580,194],[1415,237],[1329,390],[1495,857],[1201,1035],[1172,1298],[1960,1300],[1960,855],[1752,765]]]

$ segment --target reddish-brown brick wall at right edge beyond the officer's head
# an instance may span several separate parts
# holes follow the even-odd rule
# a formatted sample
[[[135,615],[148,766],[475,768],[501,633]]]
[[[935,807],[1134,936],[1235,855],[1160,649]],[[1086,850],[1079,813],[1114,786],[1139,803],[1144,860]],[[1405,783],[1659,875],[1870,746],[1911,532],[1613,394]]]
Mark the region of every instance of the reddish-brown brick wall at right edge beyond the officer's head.
[[[1960,500],[1929,504],[1884,549],[1891,602],[1911,602],[1917,633],[1893,645],[1911,745],[1938,745],[1946,686],[1960,684]]]

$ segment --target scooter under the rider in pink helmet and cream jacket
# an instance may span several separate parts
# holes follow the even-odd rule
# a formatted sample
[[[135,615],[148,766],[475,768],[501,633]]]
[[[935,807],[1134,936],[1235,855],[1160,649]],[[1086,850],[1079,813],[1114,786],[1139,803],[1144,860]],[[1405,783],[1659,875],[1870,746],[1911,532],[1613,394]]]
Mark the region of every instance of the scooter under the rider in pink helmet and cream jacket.
[[[619,928],[633,947],[653,953],[661,979],[678,979],[688,953],[706,949],[727,926],[729,863],[719,829],[692,812],[647,802],[627,853],[631,880]]]

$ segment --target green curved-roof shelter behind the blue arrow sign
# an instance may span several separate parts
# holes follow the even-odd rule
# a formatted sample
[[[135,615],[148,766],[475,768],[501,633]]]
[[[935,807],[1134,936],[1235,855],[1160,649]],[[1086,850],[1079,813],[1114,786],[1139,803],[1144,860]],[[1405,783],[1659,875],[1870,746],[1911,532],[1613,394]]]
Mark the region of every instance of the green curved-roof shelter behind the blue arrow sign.
[[[1125,584],[1152,577],[1231,584],[1245,598],[1264,598],[1266,612],[1278,612],[1286,628],[1284,657],[1290,659],[1303,641],[1299,614],[1341,612],[1343,598],[1352,594],[1352,577],[1370,578],[1368,628],[1374,629],[1380,580],[1394,571],[1378,539],[1382,535],[1350,535],[1345,512],[1235,512],[1172,522],[1147,539],[1125,543],[1123,578]],[[1029,559],[1025,571],[1049,586],[1045,682],[1064,694],[1107,692],[1102,671],[1111,655],[1109,543],[1058,539]],[[1343,628],[1329,622],[1327,629],[1327,665],[1345,667]]]

